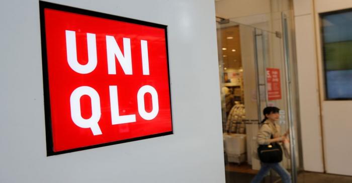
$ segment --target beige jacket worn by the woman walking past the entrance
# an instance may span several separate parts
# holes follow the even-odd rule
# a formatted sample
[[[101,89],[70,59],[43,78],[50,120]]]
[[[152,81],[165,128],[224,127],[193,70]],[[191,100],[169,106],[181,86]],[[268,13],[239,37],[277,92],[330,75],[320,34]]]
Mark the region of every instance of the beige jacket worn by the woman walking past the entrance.
[[[268,145],[270,144],[271,135],[273,134],[273,138],[280,137],[280,126],[276,123],[272,123],[270,121],[265,121],[260,126],[256,141],[259,145]]]

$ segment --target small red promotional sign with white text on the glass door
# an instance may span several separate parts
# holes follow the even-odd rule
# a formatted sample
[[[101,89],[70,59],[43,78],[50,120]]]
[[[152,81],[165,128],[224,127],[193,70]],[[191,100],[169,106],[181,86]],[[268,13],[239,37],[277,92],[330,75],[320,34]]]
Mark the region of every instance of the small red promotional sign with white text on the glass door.
[[[281,99],[280,69],[267,68],[268,100]]]

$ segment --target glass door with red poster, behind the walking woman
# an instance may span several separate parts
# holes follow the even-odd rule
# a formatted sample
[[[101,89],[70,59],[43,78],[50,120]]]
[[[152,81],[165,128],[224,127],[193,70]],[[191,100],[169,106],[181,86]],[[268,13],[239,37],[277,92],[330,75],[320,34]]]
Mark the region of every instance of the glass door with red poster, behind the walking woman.
[[[286,65],[286,52],[282,47],[285,37],[281,33],[271,33],[260,29],[253,31],[256,85],[257,85],[257,116],[259,120],[264,116],[262,110],[267,106],[280,108],[280,120],[277,124],[281,127],[281,134],[286,131],[291,132],[292,114],[290,91],[287,89],[289,78]],[[291,134],[291,133],[290,133]],[[254,137],[256,140],[256,138]],[[291,138],[292,139],[292,138]],[[284,146],[284,145],[283,145]],[[287,145],[290,147],[290,144]],[[284,147],[283,147],[284,148]],[[291,152],[291,148],[288,149]],[[295,177],[292,169],[291,153],[284,153],[282,166]],[[271,182],[280,180],[280,176],[273,170],[270,171]]]

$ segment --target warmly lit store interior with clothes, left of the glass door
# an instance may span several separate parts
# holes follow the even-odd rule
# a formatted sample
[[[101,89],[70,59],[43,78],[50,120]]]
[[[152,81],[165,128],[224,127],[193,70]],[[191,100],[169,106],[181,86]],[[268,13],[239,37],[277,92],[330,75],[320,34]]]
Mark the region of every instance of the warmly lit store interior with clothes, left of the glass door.
[[[218,29],[221,42],[219,70],[221,78],[222,123],[225,168],[234,172],[252,172],[246,153],[246,125],[244,107],[243,68],[239,25]],[[220,72],[220,73],[221,73]]]

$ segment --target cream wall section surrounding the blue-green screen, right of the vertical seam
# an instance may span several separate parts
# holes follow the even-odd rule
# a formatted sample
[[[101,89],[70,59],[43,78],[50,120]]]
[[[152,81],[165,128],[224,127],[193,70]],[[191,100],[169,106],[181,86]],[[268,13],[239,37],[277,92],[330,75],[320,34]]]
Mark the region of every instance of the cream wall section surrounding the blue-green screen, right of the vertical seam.
[[[318,48],[318,68],[320,93],[322,103],[322,126],[323,126],[323,142],[325,154],[325,170],[328,173],[352,175],[352,146],[349,145],[349,139],[352,139],[352,129],[350,109],[352,109],[352,101],[325,101],[324,76],[323,76],[323,60],[322,50],[320,49],[320,29],[319,29],[319,13],[337,11],[352,8],[352,1],[338,0],[331,3],[327,0],[314,1],[315,5],[315,33]]]

